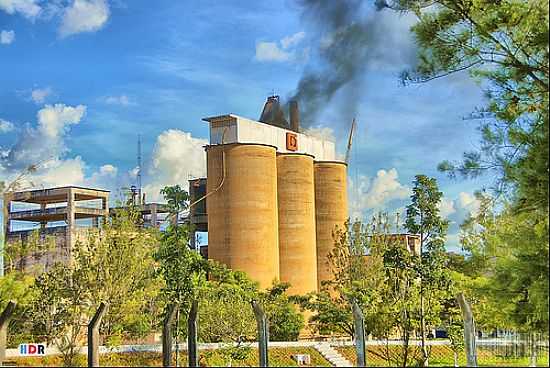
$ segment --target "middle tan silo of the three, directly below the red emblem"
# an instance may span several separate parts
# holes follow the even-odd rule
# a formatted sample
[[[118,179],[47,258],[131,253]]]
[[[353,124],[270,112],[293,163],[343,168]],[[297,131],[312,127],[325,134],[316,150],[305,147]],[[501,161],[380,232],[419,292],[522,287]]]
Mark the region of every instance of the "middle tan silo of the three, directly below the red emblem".
[[[317,290],[313,156],[277,155],[279,265],[290,294]]]

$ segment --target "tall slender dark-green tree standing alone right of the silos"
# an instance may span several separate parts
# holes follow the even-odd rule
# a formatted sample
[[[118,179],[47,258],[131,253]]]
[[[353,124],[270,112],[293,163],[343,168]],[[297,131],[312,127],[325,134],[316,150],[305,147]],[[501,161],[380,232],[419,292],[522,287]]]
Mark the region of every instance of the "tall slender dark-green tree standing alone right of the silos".
[[[426,346],[426,319],[432,327],[438,322],[440,300],[448,290],[448,273],[445,263],[445,237],[448,221],[439,214],[443,193],[433,178],[417,175],[414,181],[411,203],[407,206],[405,227],[420,236],[420,336],[422,340],[423,366],[428,364]]]

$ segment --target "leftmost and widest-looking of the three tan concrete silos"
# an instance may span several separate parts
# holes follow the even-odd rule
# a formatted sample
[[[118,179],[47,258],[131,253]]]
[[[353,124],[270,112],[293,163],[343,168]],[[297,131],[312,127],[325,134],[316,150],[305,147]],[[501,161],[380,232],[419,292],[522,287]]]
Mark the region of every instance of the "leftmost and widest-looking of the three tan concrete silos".
[[[260,287],[279,278],[275,147],[225,144],[206,148],[208,257],[245,271]]]

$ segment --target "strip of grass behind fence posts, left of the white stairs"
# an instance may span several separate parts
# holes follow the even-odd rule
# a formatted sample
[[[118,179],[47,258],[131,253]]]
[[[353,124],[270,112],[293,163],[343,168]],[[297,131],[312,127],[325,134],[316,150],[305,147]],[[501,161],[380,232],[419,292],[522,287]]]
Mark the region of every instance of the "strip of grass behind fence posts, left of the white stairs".
[[[273,367],[289,367],[297,366],[292,359],[293,354],[309,354],[311,356],[311,366],[330,367],[330,363],[319,354],[314,348],[270,348],[269,349],[269,365]],[[220,367],[227,366],[229,358],[220,350],[200,350],[199,365]],[[8,359],[11,363],[21,367],[58,367],[63,365],[61,356],[52,355],[45,357],[18,357]],[[173,358],[175,363],[175,355]],[[140,353],[110,353],[101,355],[99,363],[102,367],[161,367],[162,355],[154,352]],[[79,355],[77,357],[77,366],[84,367],[87,365],[86,356]],[[179,356],[178,365],[180,367],[187,366],[187,353],[182,352]],[[240,367],[257,367],[259,365],[258,350],[251,349],[244,360],[232,360],[232,366]]]

